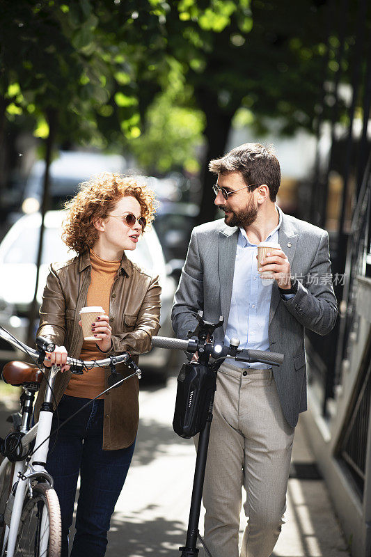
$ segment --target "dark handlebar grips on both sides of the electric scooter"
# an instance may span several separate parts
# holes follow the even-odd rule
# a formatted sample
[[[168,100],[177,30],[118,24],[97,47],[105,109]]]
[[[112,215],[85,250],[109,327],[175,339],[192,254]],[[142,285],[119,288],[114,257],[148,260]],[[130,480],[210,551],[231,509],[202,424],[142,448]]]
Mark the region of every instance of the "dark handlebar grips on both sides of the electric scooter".
[[[168,338],[166,336],[154,336],[152,337],[152,346],[159,348],[167,348],[168,350],[184,350],[184,352],[194,353],[198,350],[198,340],[189,339],[182,340],[180,338]],[[218,357],[229,357],[237,361],[253,362],[259,361],[261,363],[268,363],[271,366],[280,366],[283,363],[285,356],[279,352],[266,352],[264,350],[238,350],[235,347],[228,347],[227,345],[221,345],[219,351],[214,350],[212,352],[214,358]]]

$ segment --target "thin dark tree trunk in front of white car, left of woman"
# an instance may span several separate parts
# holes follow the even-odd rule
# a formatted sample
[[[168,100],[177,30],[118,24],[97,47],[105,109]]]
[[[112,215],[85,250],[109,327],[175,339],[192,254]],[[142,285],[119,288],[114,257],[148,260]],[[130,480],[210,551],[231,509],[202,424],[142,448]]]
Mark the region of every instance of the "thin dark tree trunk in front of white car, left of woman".
[[[42,260],[42,242],[44,240],[44,220],[45,213],[49,208],[49,169],[50,163],[52,162],[52,150],[54,145],[54,137],[56,134],[57,125],[57,113],[56,111],[50,109],[46,114],[47,123],[49,124],[49,136],[46,141],[46,152],[45,152],[45,175],[44,175],[44,188],[42,195],[42,205],[41,205],[41,226],[40,226],[40,237],[38,244],[38,257],[36,260],[36,280],[35,280],[35,291],[33,292],[33,301],[29,310],[29,329],[27,331],[27,344],[33,346],[35,344],[35,332],[33,329],[33,324],[38,317],[38,282],[40,276],[40,265]]]

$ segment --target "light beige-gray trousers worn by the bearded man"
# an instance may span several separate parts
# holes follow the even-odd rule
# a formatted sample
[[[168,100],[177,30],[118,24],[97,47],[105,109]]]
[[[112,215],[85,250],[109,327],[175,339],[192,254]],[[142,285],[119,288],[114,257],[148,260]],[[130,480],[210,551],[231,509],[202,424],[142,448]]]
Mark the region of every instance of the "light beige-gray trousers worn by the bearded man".
[[[239,556],[242,486],[248,519],[242,557],[269,557],[284,522],[294,428],[283,416],[272,371],[244,371],[229,363],[218,371],[203,489],[213,557]]]

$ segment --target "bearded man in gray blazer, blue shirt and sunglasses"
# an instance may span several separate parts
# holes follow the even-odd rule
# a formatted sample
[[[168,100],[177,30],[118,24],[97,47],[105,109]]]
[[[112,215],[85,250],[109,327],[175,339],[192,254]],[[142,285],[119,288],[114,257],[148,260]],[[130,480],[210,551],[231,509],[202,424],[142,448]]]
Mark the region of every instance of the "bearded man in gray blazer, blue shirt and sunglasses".
[[[338,315],[325,230],[276,205],[281,170],[273,152],[246,143],[210,162],[224,219],[194,228],[173,306],[178,338],[201,309],[224,317],[217,343],[285,354],[279,367],[226,360],[218,372],[203,490],[205,542],[213,557],[238,557],[242,486],[248,525],[242,557],[269,557],[283,524],[294,427],[306,410],[304,331],[333,329]],[[280,244],[259,262],[257,245]],[[330,277],[330,279],[329,279]],[[300,278],[300,279],[299,279]]]

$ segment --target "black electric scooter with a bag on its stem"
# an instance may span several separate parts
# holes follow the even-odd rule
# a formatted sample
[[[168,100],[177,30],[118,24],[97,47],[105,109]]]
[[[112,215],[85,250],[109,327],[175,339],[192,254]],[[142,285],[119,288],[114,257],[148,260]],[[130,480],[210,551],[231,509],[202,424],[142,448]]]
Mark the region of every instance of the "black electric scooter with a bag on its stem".
[[[198,325],[195,331],[189,331],[189,340],[176,338],[153,337],[152,346],[176,348],[187,352],[187,356],[196,354],[196,358],[184,363],[177,378],[177,399],[173,429],[180,437],[189,438],[199,433],[194,485],[192,489],[191,508],[187,528],[187,539],[184,547],[180,547],[181,557],[197,557],[197,540],[209,557],[212,557],[203,538],[198,531],[200,520],[203,482],[205,478],[207,448],[209,446],[212,408],[216,391],[217,370],[227,358],[248,363],[268,363],[280,366],[284,356],[278,352],[262,350],[239,350],[239,339],[232,338],[230,345],[215,345],[214,331],[221,327],[224,318],[212,323],[203,319],[203,311],[197,314]],[[194,338],[196,337],[196,338]]]

